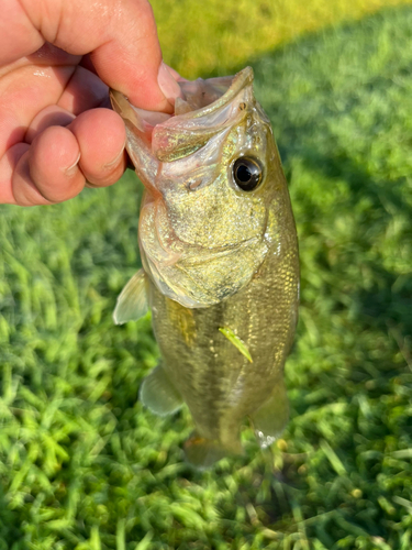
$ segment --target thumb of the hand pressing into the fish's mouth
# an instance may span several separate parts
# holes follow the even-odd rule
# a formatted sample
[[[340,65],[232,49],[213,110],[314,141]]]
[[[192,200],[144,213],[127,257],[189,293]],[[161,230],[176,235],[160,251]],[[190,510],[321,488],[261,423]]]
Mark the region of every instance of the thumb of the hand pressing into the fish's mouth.
[[[171,110],[180,89],[162,61],[156,23],[147,0],[20,0],[19,3],[45,41],[70,54],[90,53],[100,78],[122,91],[133,105]]]

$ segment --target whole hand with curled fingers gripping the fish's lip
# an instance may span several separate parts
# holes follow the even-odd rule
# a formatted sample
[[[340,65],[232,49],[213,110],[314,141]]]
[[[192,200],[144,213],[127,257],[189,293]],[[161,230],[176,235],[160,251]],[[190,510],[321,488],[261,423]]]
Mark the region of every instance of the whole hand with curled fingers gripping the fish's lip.
[[[146,0],[2,0],[0,204],[51,205],[115,183],[125,131],[108,87],[172,111],[176,74],[162,61]]]

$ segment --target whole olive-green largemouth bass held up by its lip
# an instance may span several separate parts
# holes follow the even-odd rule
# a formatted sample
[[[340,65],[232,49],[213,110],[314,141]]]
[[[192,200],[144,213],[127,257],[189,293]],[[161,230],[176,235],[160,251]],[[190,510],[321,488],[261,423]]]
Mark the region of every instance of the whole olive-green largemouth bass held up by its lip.
[[[196,430],[189,462],[241,453],[248,417],[261,447],[288,419],[283,365],[299,300],[298,241],[270,122],[253,70],[179,82],[175,114],[111,91],[145,186],[143,268],[118,299],[122,323],[152,309],[160,364],[141,399],[168,415],[183,403]]]

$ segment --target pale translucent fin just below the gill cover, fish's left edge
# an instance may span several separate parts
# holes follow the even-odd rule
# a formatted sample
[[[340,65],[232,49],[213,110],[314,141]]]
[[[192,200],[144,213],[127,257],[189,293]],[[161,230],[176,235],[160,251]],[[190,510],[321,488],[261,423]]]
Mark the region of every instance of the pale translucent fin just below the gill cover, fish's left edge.
[[[113,312],[114,322],[123,324],[127,321],[136,321],[146,314],[147,309],[146,274],[143,270],[138,270],[119,295]]]

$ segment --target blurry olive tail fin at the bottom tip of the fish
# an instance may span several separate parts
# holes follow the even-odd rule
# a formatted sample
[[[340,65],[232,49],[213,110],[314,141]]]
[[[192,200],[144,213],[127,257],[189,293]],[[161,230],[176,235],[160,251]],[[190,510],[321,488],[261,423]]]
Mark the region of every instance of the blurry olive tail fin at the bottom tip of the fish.
[[[243,449],[240,441],[227,448],[218,440],[199,436],[197,431],[193,431],[185,442],[186,460],[199,470],[208,470],[224,457],[242,453]]]

